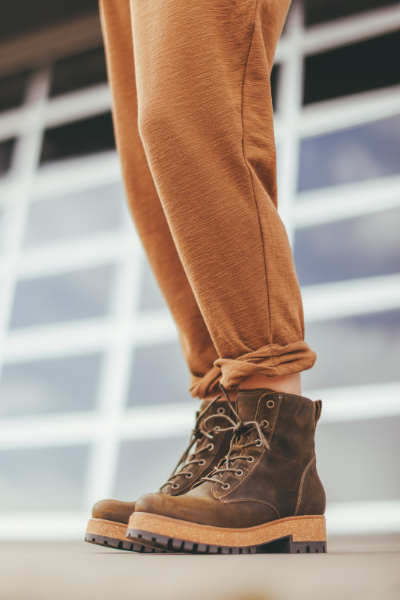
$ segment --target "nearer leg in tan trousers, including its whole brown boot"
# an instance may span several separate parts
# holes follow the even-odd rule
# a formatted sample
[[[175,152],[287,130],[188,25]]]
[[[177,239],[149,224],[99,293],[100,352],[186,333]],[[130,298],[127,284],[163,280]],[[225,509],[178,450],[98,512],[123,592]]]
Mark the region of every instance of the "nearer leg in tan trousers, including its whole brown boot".
[[[276,210],[269,76],[288,1],[131,6],[146,155],[222,383],[239,390],[225,459],[184,495],[139,498],[127,535],[187,552],[325,552],[321,403],[297,393],[315,354]]]

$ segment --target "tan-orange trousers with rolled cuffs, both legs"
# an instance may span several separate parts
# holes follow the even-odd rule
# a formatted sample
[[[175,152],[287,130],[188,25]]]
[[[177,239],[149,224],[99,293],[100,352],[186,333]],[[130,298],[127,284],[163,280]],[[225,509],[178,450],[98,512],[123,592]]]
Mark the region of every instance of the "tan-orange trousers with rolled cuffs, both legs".
[[[309,369],[277,213],[270,73],[289,0],[101,0],[127,198],[204,397]]]

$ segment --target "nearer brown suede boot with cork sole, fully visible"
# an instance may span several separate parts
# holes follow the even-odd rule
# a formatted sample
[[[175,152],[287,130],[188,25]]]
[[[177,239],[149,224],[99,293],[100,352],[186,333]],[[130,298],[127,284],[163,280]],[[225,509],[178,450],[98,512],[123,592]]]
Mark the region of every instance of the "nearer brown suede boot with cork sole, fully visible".
[[[127,536],[195,553],[326,552],[314,448],[321,401],[241,390],[236,409],[226,459],[184,496],[139,498]]]

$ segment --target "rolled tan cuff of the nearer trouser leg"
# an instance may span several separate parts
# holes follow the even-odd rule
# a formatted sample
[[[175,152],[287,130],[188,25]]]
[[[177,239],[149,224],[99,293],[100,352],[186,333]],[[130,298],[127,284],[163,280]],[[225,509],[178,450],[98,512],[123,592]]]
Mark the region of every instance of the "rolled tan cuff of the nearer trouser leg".
[[[219,358],[214,366],[222,371],[221,383],[226,388],[239,385],[251,375],[293,375],[311,369],[317,355],[305,342],[294,342],[287,346],[264,346],[236,359]]]

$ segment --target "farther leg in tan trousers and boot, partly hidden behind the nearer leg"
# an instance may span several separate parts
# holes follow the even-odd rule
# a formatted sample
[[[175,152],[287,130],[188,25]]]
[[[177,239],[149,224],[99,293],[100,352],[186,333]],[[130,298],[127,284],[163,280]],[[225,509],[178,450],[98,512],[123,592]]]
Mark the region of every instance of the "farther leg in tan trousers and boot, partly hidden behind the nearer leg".
[[[218,357],[176,251],[168,223],[143,151],[137,126],[137,100],[130,8],[128,0],[102,0],[102,22],[108,72],[113,92],[113,114],[129,205],[151,266],[180,331],[183,352],[191,372],[191,392],[201,404],[190,447],[170,480],[165,495],[180,495],[207,475],[229,450],[231,432],[213,430],[226,416],[234,417],[213,384],[221,370]],[[154,374],[157,377],[157,373]],[[172,468],[172,466],[171,466]],[[134,476],[134,474],[133,474]],[[161,482],[160,482],[161,483]],[[88,542],[133,551],[161,551],[157,544],[125,537],[135,502],[101,500],[92,511],[86,531]]]

